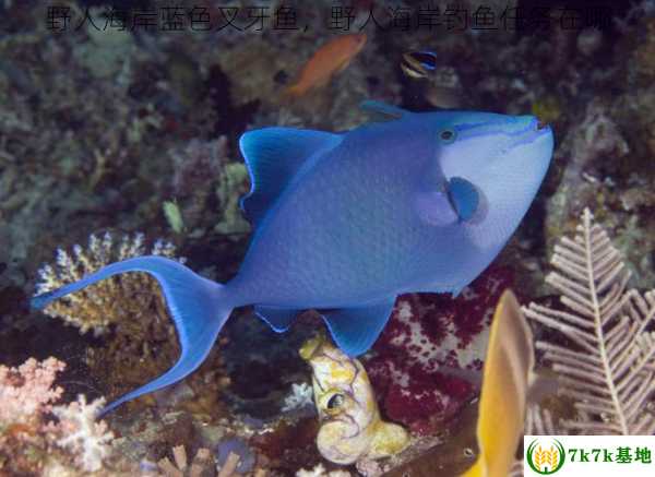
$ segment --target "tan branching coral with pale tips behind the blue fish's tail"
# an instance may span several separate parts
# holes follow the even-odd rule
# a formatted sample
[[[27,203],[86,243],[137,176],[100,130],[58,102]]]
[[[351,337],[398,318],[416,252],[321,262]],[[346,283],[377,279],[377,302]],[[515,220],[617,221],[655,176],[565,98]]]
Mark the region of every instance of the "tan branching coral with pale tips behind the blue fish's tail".
[[[126,235],[118,242],[109,232],[102,238],[92,234],[86,249],[75,245],[72,254],[63,249],[57,250],[56,264],[46,264],[38,272],[40,282],[36,293],[53,290],[111,262],[133,257],[162,255],[183,263],[184,259],[176,259],[175,252],[175,246],[164,240],[157,240],[150,250],[146,249],[143,234]],[[153,308],[164,309],[156,281],[145,273],[130,273],[111,276],[57,300],[44,312],[78,326],[80,333],[93,330],[95,335],[99,335],[110,324],[123,320],[139,321],[143,313]]]

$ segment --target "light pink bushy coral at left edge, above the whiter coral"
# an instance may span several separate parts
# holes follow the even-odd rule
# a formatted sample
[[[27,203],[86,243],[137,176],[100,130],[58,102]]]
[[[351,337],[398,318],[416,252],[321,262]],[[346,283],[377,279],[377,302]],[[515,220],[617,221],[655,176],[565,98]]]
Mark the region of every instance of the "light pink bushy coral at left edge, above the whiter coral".
[[[52,389],[52,383],[64,368],[56,358],[41,362],[29,358],[17,368],[0,365],[0,422],[32,422],[50,412],[63,392],[61,387]]]

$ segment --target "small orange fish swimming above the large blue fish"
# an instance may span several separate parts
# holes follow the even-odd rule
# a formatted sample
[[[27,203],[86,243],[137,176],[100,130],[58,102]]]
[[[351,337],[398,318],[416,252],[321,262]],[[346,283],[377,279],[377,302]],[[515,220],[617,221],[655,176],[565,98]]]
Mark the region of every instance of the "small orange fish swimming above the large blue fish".
[[[313,53],[286,94],[300,97],[310,90],[324,86],[333,74],[340,73],[350,64],[365,44],[364,33],[341,35],[331,39]]]

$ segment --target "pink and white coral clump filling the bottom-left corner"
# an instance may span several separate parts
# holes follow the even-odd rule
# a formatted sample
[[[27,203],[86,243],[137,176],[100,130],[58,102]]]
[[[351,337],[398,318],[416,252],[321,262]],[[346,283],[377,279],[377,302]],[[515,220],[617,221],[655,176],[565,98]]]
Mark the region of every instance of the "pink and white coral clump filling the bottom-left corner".
[[[53,387],[53,382],[63,369],[55,358],[31,358],[17,368],[0,366],[0,473],[134,472],[134,465],[111,455],[114,436],[106,422],[95,420],[104,400],[87,404],[81,395],[68,405],[55,405],[63,389]]]

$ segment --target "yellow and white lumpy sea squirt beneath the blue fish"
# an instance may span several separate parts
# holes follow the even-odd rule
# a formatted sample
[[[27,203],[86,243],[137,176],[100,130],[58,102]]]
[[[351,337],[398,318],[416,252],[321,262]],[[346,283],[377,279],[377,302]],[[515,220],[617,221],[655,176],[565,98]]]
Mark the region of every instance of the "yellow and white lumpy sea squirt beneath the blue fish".
[[[385,422],[364,366],[323,334],[309,339],[300,356],[312,367],[314,402],[321,427],[319,452],[336,464],[389,457],[409,444],[401,426]]]

